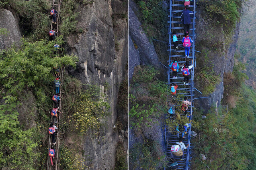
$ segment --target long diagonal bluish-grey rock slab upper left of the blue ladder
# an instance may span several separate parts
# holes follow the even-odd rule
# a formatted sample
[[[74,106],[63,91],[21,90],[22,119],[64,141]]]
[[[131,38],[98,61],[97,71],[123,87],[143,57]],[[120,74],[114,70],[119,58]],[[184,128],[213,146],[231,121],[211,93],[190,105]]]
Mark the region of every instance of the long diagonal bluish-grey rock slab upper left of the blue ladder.
[[[129,36],[131,36],[134,44],[138,47],[140,60],[146,65],[155,65],[158,67],[159,59],[154,45],[148,40],[132,8],[136,8],[135,3],[129,1]]]

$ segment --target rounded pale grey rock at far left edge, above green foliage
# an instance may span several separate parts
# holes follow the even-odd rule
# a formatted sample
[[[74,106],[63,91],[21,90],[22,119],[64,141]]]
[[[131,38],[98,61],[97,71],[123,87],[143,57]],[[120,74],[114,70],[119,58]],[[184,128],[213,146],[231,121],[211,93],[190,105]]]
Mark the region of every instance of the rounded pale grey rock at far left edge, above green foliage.
[[[1,28],[6,28],[8,32],[6,32],[6,34],[0,33],[0,49],[8,49],[13,44],[18,45],[21,38],[18,19],[14,17],[12,12],[6,9],[0,9],[0,29]]]

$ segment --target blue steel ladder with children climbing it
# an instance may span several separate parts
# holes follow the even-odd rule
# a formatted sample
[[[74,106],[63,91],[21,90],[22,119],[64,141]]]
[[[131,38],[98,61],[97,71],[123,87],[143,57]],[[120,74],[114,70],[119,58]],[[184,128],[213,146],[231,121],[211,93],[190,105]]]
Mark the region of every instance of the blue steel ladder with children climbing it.
[[[178,88],[176,89],[177,94],[181,94],[182,96],[187,96],[188,101],[191,101],[191,106],[188,109],[188,113],[190,113],[190,120],[192,120],[193,117],[193,107],[194,107],[194,69],[196,67],[196,57],[195,57],[195,39],[196,39],[196,34],[195,34],[195,13],[196,13],[196,0],[190,1],[190,10],[193,8],[194,14],[191,16],[191,23],[190,23],[190,31],[189,31],[189,36],[194,39],[194,42],[191,44],[190,47],[190,57],[186,58],[185,57],[185,51],[184,47],[181,44],[182,38],[184,36],[184,27],[182,22],[180,21],[180,15],[182,14],[182,11],[184,10],[184,0],[170,0],[170,15],[169,15],[169,21],[170,26],[168,27],[169,30],[169,60],[168,63],[172,63],[174,58],[178,58],[178,63],[179,65],[183,65],[186,61],[189,61],[190,65],[192,64],[192,60],[194,61],[193,66],[190,69],[190,83],[188,85],[184,85],[182,79],[184,77],[182,76],[182,72],[178,71],[177,73],[177,79],[172,79],[172,70],[170,67],[168,67],[168,88],[170,88],[172,83],[176,83],[178,85]],[[180,34],[182,38],[178,38],[179,45],[178,45],[178,50],[175,51],[173,44],[172,44],[172,31],[175,30],[176,34]],[[192,33],[192,34],[191,34]],[[192,50],[192,53],[191,53]],[[180,92],[180,93],[179,93]],[[183,101],[183,98],[176,98],[176,101]],[[167,97],[168,103],[170,103],[170,96]],[[180,109],[181,104],[174,103],[176,105],[176,109]],[[169,113],[166,113],[166,119],[170,117]],[[180,160],[179,156],[175,156],[171,152],[171,146],[178,142],[177,139],[177,134],[176,131],[171,131],[168,126],[166,125],[165,127],[165,152],[166,156],[168,158],[172,158],[175,162],[178,162],[179,167],[178,170],[188,170],[190,169],[190,164],[191,164],[191,143],[190,143],[190,137],[191,137],[191,127],[188,130],[188,133],[184,135],[185,138],[182,140],[182,142],[185,144],[189,144],[189,147],[184,150],[184,160]],[[165,169],[165,168],[164,168]]]

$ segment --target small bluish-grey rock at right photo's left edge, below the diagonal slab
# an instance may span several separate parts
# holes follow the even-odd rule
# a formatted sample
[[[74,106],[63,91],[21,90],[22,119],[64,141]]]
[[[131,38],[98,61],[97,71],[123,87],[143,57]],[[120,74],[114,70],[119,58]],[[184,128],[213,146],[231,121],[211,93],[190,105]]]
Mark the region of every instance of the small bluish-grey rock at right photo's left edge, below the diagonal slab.
[[[129,85],[133,77],[134,67],[140,64],[139,51],[134,47],[133,41],[129,36]]]

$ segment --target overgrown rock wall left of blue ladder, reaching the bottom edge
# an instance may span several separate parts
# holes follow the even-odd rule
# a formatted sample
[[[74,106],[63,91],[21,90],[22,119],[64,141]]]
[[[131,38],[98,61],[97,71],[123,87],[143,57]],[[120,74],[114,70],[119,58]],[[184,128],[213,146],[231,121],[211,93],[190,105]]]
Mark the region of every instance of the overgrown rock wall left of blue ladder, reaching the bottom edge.
[[[166,165],[162,149],[167,85],[159,80],[159,71],[137,66],[129,89],[129,125],[139,141],[129,144],[129,169],[156,170]],[[130,139],[131,141],[131,139]]]

